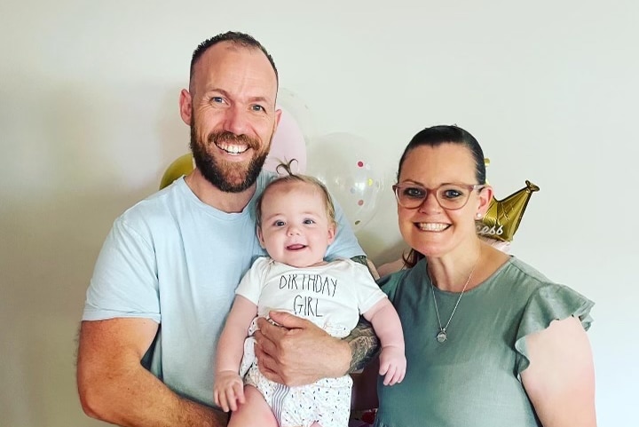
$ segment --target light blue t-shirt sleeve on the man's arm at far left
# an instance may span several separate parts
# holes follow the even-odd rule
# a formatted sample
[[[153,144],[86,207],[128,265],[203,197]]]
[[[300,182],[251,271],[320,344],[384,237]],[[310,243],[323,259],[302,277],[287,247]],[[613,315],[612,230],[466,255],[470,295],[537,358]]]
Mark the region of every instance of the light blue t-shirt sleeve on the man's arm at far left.
[[[115,220],[100,250],[83,320],[121,317],[161,320],[153,245],[122,217]]]

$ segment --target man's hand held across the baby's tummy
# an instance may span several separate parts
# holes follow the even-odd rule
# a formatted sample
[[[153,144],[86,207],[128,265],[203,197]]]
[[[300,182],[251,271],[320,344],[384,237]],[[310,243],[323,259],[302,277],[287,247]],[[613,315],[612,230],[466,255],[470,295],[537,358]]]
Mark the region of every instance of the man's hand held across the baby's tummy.
[[[270,312],[269,316],[279,326],[260,318],[255,335],[256,357],[264,376],[295,386],[346,375],[351,365],[348,343],[288,312]]]

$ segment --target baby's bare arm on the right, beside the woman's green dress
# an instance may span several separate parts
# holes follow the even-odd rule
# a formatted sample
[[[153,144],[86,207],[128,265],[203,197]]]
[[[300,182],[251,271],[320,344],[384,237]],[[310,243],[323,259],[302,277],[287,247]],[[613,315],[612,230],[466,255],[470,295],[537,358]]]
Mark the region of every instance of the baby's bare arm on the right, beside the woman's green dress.
[[[373,324],[375,334],[382,343],[379,374],[384,376],[384,385],[401,383],[406,375],[404,355],[404,332],[398,313],[388,298],[383,298],[364,313],[366,320]]]

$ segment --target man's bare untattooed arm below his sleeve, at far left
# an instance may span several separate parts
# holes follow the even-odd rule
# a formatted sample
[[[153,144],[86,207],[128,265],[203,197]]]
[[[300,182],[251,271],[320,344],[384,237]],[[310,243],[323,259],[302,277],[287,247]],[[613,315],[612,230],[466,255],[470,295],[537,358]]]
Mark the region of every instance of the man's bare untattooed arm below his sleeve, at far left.
[[[178,396],[142,367],[156,330],[144,319],[83,321],[77,385],[84,412],[126,427],[224,427],[224,413]]]

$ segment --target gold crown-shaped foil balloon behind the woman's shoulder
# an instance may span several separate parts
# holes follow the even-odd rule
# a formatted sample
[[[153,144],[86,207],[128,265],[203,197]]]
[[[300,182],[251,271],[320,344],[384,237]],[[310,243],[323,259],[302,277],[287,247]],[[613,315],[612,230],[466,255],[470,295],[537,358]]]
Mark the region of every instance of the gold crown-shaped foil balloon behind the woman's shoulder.
[[[493,197],[485,217],[477,221],[477,233],[480,236],[498,241],[512,241],[531,195],[540,189],[528,180],[525,181],[525,185],[503,200]]]

